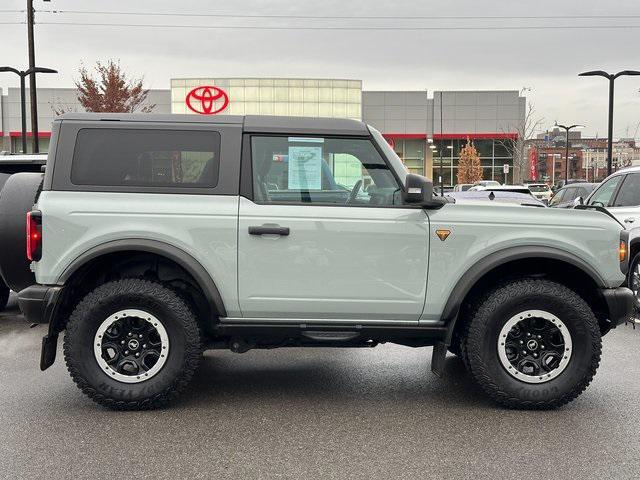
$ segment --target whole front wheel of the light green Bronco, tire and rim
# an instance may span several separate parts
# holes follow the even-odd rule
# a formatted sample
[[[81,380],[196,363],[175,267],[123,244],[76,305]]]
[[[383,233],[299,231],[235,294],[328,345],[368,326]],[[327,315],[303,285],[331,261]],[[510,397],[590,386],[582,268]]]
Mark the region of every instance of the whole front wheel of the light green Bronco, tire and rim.
[[[549,280],[505,284],[479,303],[464,341],[480,387],[510,408],[564,405],[600,363],[600,328],[589,305]]]

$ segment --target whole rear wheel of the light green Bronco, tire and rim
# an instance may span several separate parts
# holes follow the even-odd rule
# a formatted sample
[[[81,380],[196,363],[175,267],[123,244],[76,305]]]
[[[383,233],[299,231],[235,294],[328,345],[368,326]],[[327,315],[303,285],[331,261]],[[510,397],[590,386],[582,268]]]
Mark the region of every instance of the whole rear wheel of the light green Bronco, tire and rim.
[[[202,356],[189,305],[139,279],[97,287],[76,306],[64,338],[67,368],[92,400],[117,410],[162,406],[187,386]]]

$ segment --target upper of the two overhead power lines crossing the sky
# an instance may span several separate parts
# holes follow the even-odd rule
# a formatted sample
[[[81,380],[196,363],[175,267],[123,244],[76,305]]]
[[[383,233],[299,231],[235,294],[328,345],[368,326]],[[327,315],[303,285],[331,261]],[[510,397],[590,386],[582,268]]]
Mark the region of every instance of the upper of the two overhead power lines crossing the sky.
[[[41,13],[71,15],[129,15],[160,17],[218,17],[218,18],[291,18],[321,20],[594,20],[630,19],[640,15],[295,15],[295,14],[235,14],[184,12],[118,12],[95,10],[38,10]]]

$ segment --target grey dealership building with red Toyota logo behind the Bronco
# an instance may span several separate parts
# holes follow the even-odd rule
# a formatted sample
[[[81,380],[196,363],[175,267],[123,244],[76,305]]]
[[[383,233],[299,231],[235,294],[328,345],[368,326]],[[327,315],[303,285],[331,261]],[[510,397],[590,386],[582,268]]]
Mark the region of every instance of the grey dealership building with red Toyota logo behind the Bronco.
[[[1,93],[2,150],[19,152],[20,90]],[[150,90],[147,103],[155,105],[154,113],[363,120],[382,132],[411,171],[436,180],[441,174],[452,185],[468,140],[480,154],[485,179],[512,181],[513,158],[505,144],[524,122],[526,98],[517,90],[370,91],[353,79],[205,77],[174,78],[169,90]],[[61,110],[82,111],[75,89],[38,89],[41,151]]]

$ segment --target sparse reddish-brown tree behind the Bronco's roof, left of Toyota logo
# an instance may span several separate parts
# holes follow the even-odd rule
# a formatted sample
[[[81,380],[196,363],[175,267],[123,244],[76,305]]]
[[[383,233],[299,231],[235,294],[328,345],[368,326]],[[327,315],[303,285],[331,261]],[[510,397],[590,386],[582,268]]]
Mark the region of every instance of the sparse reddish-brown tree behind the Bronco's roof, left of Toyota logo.
[[[143,78],[127,77],[119,61],[96,62],[94,70],[97,78],[81,66],[80,79],[75,81],[78,102],[87,112],[148,113],[155,108],[145,104],[149,90],[143,87]],[[67,111],[54,107],[56,114]]]

